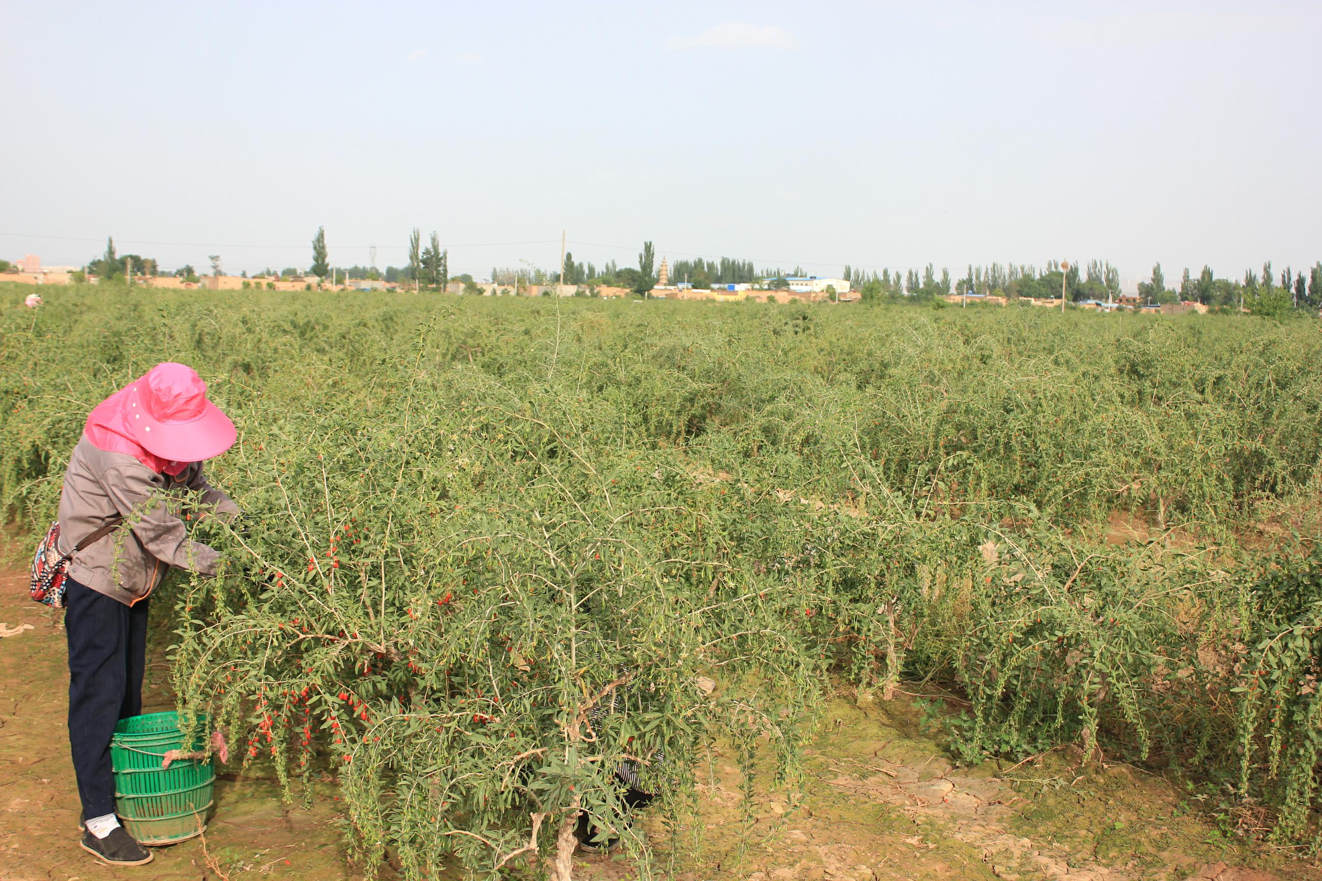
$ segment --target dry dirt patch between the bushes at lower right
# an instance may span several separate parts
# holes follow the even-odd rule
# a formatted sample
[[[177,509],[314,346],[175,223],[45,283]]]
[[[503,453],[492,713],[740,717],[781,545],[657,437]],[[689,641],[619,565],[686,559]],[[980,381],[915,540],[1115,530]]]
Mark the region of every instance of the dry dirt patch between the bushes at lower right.
[[[1222,833],[1167,781],[1126,766],[1081,767],[1060,752],[1018,767],[956,767],[900,699],[832,703],[800,796],[765,785],[740,822],[739,775],[715,757],[695,878],[1066,878],[1146,881],[1322,878],[1317,866]],[[759,781],[761,783],[761,781]],[[658,857],[666,853],[652,831]]]

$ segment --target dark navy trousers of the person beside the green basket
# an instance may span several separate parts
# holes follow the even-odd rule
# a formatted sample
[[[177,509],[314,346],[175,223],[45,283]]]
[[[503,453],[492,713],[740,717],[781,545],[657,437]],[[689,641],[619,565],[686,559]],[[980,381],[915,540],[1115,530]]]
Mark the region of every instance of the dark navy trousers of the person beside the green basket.
[[[115,722],[143,708],[147,600],[132,606],[65,581],[69,637],[69,746],[87,816],[115,812],[110,738]]]

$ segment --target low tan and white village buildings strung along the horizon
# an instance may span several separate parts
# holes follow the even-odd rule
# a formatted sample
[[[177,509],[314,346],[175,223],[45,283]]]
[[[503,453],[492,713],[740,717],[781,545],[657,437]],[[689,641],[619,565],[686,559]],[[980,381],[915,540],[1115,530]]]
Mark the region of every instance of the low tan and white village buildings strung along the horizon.
[[[33,254],[21,260],[11,263],[7,271],[0,272],[0,281],[13,281],[33,285],[62,285],[62,284],[95,284],[95,275],[89,273],[83,267],[73,265],[42,265],[41,258]],[[152,289],[181,289],[181,291],[408,291],[414,285],[411,281],[387,281],[385,279],[330,279],[315,275],[132,275],[132,287]],[[496,281],[477,281],[469,276],[460,276],[444,285],[446,293],[477,295],[477,296],[579,296],[603,299],[629,299],[639,297],[631,288],[619,288],[602,284],[530,284],[518,277],[510,284]],[[756,301],[756,302],[837,302],[847,304],[859,301],[859,292],[843,277],[829,276],[777,276],[775,279],[761,279],[752,283],[723,284],[715,283],[709,288],[695,288],[689,283],[672,283],[669,265],[662,258],[657,269],[657,284],[648,293],[649,299],[665,300],[714,300],[717,302]],[[945,302],[956,306],[968,305],[998,305],[1031,304],[1038,308],[1060,308],[1060,299],[1019,299],[1005,297],[988,293],[951,293],[940,297]],[[1146,312],[1162,314],[1178,314],[1185,312],[1206,313],[1207,306],[1202,302],[1183,301],[1167,304],[1144,304],[1137,293],[1120,293],[1114,301],[1081,300],[1072,304],[1080,309],[1097,312]]]

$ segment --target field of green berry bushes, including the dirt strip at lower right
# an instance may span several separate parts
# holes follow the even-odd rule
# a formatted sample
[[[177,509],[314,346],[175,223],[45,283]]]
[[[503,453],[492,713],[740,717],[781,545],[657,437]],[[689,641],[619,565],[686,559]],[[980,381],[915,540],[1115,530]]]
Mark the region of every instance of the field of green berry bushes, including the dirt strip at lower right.
[[[0,285],[17,528],[157,361],[239,427],[209,469],[245,516],[196,527],[226,569],[153,598],[156,700],[243,759],[217,853],[260,828],[327,877],[530,877],[533,845],[553,877],[1317,877],[1313,322],[26,292]],[[36,646],[62,660],[17,575],[8,695]],[[578,810],[616,816],[621,761],[657,803],[617,859],[557,860]]]

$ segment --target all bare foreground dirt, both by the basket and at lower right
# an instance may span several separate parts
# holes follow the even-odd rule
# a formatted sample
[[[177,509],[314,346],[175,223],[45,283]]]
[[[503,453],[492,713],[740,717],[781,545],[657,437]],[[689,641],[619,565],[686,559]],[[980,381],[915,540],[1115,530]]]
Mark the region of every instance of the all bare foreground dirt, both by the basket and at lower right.
[[[362,877],[346,860],[329,785],[305,810],[283,803],[260,770],[233,765],[218,777],[205,844],[159,848],[134,869],[95,863],[78,848],[62,614],[29,601],[25,573],[9,568],[0,572],[0,622],[12,633],[0,639],[0,880]],[[144,704],[173,707],[160,652]],[[1083,767],[1066,752],[1018,767],[956,767],[903,696],[833,700],[805,771],[797,793],[759,777],[748,811],[734,761],[714,752],[695,818],[673,829],[644,820],[653,869],[694,881],[1322,881],[1314,865],[1225,835],[1196,799],[1137,769]],[[621,856],[583,857],[578,869],[583,878],[637,877]]]

